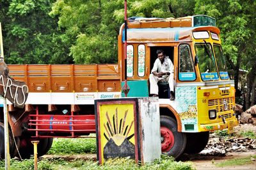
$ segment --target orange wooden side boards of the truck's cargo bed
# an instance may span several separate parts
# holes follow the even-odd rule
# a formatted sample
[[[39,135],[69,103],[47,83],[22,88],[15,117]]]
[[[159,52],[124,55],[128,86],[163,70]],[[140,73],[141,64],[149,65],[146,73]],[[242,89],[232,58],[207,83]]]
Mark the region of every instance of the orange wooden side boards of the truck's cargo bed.
[[[15,80],[25,81],[29,92],[120,91],[118,64],[8,65]]]

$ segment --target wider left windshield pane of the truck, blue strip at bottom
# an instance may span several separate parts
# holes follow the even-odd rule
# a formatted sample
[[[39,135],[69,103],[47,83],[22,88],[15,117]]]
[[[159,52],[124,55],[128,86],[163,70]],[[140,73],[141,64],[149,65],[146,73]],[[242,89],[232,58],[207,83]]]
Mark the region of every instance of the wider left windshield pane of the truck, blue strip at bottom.
[[[209,43],[196,44],[195,50],[202,80],[218,80],[219,76],[211,45]]]

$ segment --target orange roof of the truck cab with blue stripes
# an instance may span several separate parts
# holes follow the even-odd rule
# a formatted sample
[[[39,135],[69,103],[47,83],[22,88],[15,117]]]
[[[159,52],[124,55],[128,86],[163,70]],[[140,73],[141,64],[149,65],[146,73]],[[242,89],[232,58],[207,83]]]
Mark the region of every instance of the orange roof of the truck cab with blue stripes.
[[[192,41],[193,31],[211,31],[220,34],[214,18],[194,15],[181,18],[131,17],[127,25],[127,42]],[[124,24],[120,27],[124,41]]]

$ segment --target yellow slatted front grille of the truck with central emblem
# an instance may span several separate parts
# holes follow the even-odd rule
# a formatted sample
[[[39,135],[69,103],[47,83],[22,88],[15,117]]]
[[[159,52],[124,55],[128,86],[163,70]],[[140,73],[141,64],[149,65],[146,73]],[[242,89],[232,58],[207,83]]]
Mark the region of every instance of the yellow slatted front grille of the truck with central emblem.
[[[214,108],[217,112],[217,115],[220,115],[221,118],[230,118],[230,117],[232,117],[232,113],[227,114],[226,111],[233,109],[234,97],[226,97],[226,98],[222,98],[222,99],[211,99],[208,101],[208,106],[210,108]],[[224,111],[226,113],[221,114]]]

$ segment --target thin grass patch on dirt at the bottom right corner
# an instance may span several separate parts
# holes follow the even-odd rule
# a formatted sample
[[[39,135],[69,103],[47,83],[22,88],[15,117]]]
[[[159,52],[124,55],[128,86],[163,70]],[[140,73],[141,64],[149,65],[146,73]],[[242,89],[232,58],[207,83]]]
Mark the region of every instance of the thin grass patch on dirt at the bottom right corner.
[[[218,167],[224,167],[224,166],[243,166],[245,164],[252,164],[253,161],[251,158],[256,159],[256,155],[253,155],[251,157],[245,157],[241,159],[230,159],[225,160],[224,162],[216,164]]]

